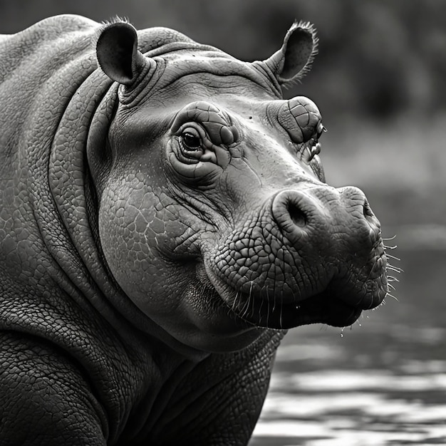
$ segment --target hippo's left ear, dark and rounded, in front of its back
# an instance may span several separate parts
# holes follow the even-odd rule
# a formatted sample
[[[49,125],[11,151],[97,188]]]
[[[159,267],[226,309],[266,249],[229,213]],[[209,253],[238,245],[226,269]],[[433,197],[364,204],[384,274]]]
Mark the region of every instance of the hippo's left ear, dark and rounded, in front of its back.
[[[96,56],[103,72],[124,85],[132,85],[146,63],[138,51],[136,29],[127,22],[102,28],[96,43]]]

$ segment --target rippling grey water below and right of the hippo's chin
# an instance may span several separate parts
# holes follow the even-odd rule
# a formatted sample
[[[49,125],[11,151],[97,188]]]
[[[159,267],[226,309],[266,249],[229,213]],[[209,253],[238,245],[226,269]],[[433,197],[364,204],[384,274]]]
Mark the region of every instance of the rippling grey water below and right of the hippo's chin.
[[[289,332],[250,446],[446,445],[446,250],[398,255],[398,301]]]

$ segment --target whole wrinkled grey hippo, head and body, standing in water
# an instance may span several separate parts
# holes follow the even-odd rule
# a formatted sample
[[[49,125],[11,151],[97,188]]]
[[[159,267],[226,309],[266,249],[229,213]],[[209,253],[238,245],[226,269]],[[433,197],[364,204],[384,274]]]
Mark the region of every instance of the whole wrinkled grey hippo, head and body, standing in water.
[[[311,26],[263,62],[165,28],[138,48],[76,16],[0,38],[2,446],[246,445],[285,329],[386,294],[363,192],[282,100]]]

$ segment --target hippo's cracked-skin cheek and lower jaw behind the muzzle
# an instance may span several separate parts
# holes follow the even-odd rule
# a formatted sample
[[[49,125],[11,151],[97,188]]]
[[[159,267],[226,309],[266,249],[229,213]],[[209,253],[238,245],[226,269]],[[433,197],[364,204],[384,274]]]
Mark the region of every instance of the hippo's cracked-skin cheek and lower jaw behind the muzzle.
[[[174,213],[162,192],[115,181],[103,194],[100,242],[115,281],[155,324],[178,341],[208,351],[237,350],[259,336],[251,323],[232,315],[199,276],[197,232],[184,208]],[[162,204],[162,206],[161,206]],[[158,209],[158,210],[157,210]],[[175,209],[178,210],[176,206]]]

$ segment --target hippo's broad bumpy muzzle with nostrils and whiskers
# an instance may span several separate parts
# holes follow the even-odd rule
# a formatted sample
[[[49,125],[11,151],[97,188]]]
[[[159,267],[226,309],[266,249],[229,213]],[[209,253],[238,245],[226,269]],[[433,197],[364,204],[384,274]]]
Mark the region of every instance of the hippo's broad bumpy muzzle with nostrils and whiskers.
[[[205,259],[209,281],[256,326],[351,325],[387,293],[379,222],[353,187],[277,193]]]

